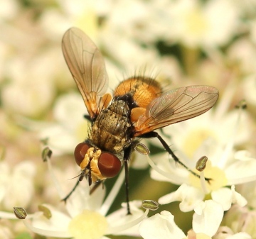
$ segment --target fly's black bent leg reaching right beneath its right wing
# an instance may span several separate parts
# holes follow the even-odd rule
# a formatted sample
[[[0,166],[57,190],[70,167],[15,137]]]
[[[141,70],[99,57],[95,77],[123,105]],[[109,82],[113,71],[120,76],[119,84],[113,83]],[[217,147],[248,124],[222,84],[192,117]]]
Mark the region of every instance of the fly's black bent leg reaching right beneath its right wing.
[[[169,152],[169,154],[171,155],[171,157],[173,157],[174,161],[177,162],[179,165],[181,165],[182,167],[186,168],[188,170],[188,172],[191,172],[191,174],[193,174],[194,176],[200,178],[200,175],[197,174],[196,172],[193,172],[191,169],[189,169],[186,165],[183,164],[183,162],[181,162],[178,157],[174,154],[174,152],[171,150],[171,148],[169,147],[169,145],[167,145],[167,143],[164,141],[163,138],[161,138],[161,136],[159,135],[159,133],[157,132],[149,132],[149,133],[145,133],[144,135],[139,136],[141,138],[158,138],[159,141],[161,142],[161,144],[164,146],[164,149]],[[205,178],[207,182],[210,182],[209,178]]]

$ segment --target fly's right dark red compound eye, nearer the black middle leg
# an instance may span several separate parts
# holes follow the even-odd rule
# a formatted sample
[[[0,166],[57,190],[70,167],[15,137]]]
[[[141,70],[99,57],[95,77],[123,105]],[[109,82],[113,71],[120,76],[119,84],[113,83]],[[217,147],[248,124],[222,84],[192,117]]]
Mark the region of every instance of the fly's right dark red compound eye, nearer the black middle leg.
[[[103,177],[114,177],[119,173],[122,165],[117,156],[110,152],[102,152],[98,167]]]

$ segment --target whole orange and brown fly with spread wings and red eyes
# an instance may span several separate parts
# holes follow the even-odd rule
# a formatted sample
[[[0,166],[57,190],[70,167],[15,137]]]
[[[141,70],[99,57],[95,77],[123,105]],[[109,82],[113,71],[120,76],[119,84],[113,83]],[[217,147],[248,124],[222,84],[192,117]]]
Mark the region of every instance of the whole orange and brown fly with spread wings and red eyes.
[[[158,138],[174,160],[186,167],[154,130],[205,113],[217,101],[218,89],[195,85],[163,93],[155,79],[138,76],[121,82],[112,96],[107,93],[108,77],[102,54],[82,30],[67,30],[62,49],[91,121],[88,138],[74,152],[81,168],[75,187],[84,177],[90,186],[99,185],[115,177],[124,165],[129,214],[128,162],[139,138]]]

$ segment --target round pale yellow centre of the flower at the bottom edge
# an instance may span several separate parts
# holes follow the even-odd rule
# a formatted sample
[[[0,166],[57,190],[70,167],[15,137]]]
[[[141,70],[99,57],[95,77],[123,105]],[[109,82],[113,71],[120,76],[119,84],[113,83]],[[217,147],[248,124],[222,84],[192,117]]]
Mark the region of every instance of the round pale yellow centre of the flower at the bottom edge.
[[[68,230],[75,239],[102,238],[107,231],[107,220],[100,213],[84,210],[70,221]]]

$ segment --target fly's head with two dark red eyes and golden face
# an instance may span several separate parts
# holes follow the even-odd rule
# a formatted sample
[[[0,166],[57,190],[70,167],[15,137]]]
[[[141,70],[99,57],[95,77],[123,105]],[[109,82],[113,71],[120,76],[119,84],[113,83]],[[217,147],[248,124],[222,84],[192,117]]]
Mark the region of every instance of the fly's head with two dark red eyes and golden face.
[[[89,186],[93,183],[115,177],[122,163],[111,152],[104,152],[93,147],[90,143],[83,142],[77,145],[74,151],[75,162],[81,167]]]

